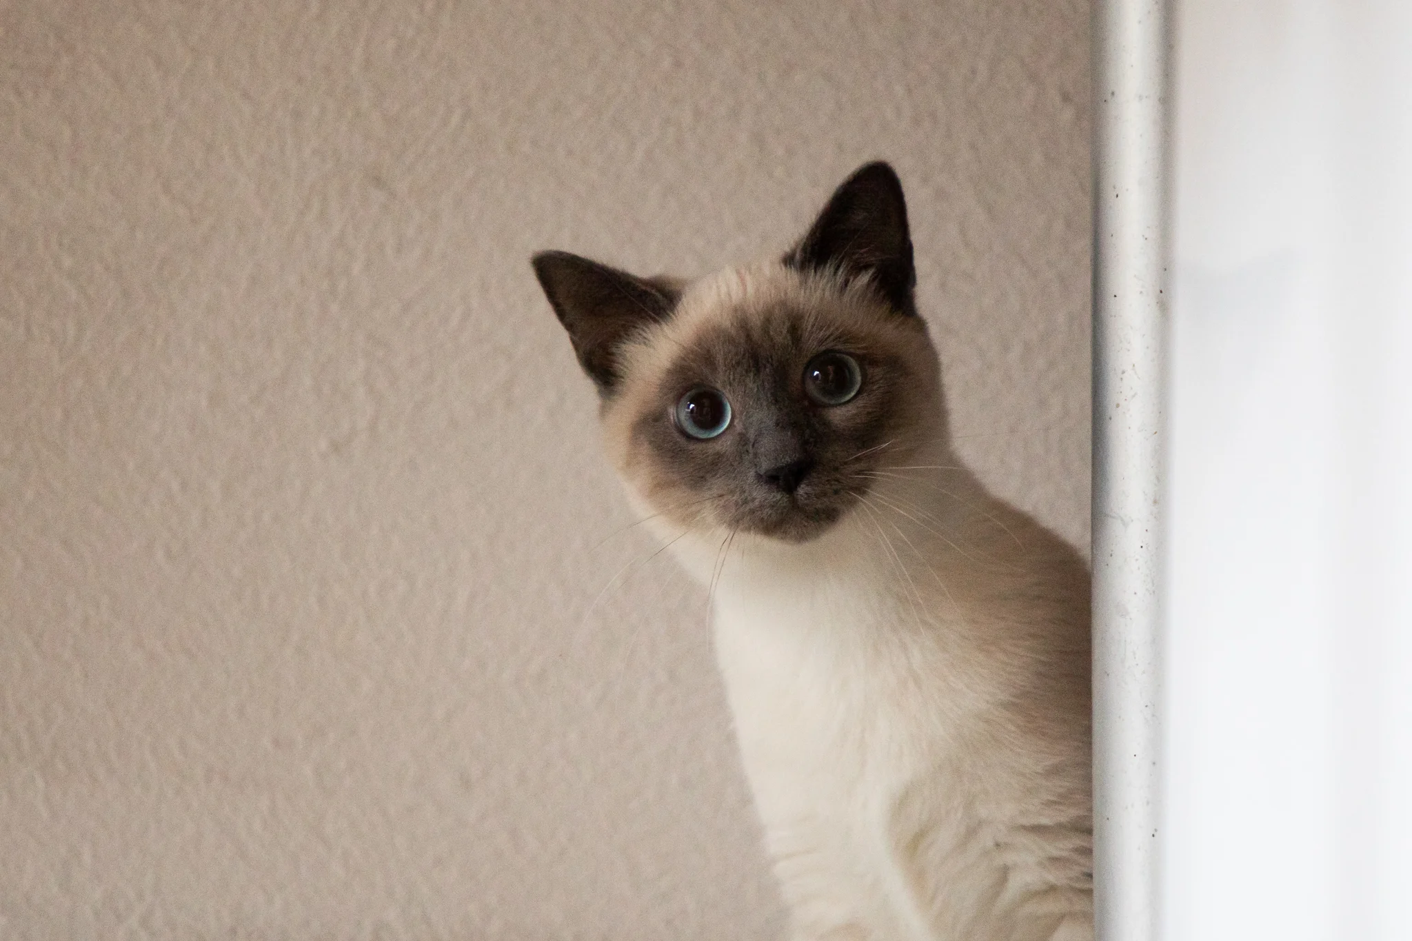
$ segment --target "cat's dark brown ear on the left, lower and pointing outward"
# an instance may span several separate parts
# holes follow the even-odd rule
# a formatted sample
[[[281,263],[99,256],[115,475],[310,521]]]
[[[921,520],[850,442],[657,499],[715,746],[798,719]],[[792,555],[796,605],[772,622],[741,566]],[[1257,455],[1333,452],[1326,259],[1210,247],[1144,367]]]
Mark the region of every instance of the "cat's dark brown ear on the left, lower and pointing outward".
[[[666,279],[637,278],[566,251],[541,251],[531,264],[583,371],[602,395],[610,394],[623,378],[617,361],[623,340],[666,320],[678,292]]]

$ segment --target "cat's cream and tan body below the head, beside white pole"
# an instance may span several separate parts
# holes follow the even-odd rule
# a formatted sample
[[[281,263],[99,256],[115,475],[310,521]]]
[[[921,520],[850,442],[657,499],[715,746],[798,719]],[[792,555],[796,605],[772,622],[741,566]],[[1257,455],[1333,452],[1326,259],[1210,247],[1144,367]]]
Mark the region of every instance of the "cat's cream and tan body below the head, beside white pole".
[[[714,574],[717,655],[794,937],[1091,937],[1072,549],[970,474],[929,470],[874,487],[812,543],[689,533],[674,552]]]

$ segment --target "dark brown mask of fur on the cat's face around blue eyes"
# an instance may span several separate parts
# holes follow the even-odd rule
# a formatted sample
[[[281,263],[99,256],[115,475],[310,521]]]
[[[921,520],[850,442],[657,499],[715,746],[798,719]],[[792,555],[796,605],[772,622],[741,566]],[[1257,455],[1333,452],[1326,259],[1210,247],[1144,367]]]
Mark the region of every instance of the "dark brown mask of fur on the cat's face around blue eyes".
[[[867,492],[911,415],[909,357],[890,346],[866,324],[789,308],[705,330],[638,405],[640,481],[682,521],[819,536]]]

